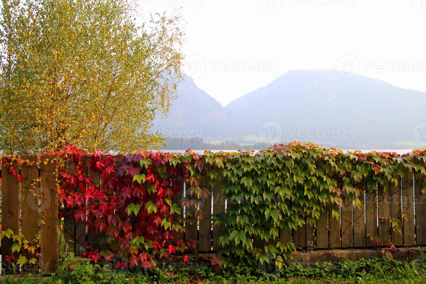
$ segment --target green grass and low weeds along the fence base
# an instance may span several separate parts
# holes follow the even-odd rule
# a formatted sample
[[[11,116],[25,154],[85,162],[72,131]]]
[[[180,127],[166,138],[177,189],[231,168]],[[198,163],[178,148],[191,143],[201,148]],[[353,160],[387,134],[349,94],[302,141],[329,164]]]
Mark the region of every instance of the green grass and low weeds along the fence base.
[[[200,269],[159,269],[116,273],[99,265],[75,264],[70,270],[41,276],[15,277],[10,275],[4,283],[426,283],[426,259],[398,261],[391,258],[370,260],[324,262],[303,267],[290,264],[282,270],[253,269],[245,264],[234,266],[221,274],[211,267]]]

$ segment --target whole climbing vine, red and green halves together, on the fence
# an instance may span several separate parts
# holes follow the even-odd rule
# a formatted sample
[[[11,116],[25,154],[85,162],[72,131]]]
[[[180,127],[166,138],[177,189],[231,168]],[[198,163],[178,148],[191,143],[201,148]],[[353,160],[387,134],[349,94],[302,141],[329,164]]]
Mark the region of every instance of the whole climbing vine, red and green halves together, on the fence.
[[[84,255],[96,263],[119,254],[124,260],[116,263],[118,267],[146,269],[159,258],[196,247],[194,240],[185,243],[175,237],[185,230],[180,213],[187,208],[187,224],[210,214],[203,212],[201,201],[216,184],[227,199],[227,209],[214,215],[213,221],[225,224],[226,230],[219,239],[220,256],[212,264],[274,261],[280,267],[295,250],[292,242],[278,241],[281,232],[314,225],[327,212],[339,218],[339,208],[345,204],[360,208],[364,192],[370,196],[378,187],[389,191],[390,184],[397,184],[407,170],[426,175],[425,149],[404,155],[343,153],[291,142],[260,152],[205,151],[202,155],[190,150],[112,155],[73,146],[48,154],[59,157],[60,217],[83,222],[110,245],[102,251],[87,245]],[[8,166],[6,159],[2,162]],[[20,179],[13,167],[10,170]],[[187,194],[180,198],[182,181]],[[420,182],[426,184],[424,179]],[[380,221],[400,232],[402,217],[380,216]]]

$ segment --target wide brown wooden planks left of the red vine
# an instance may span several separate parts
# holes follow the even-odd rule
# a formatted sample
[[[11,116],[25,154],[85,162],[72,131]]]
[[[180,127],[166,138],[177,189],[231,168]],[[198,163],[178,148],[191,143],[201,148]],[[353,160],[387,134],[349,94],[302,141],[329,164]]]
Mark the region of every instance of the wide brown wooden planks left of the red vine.
[[[37,156],[21,156],[23,160],[37,161]],[[21,273],[53,272],[58,268],[59,258],[59,218],[58,218],[58,166],[57,156],[41,157],[40,169],[36,165],[24,163],[21,166],[12,165],[19,172],[23,181],[18,182],[17,176],[9,173],[9,169],[3,167],[2,178],[2,229],[12,229],[16,235],[23,234],[32,240],[40,232],[40,250],[32,255],[27,255],[22,250],[22,255],[27,258],[35,258],[35,264],[25,264]],[[46,162],[46,163],[45,163]],[[37,182],[40,180],[40,186]],[[40,198],[38,198],[40,196]],[[41,222],[40,220],[44,221]],[[4,262],[4,256],[12,252],[13,242],[7,238],[2,239],[2,269],[8,273],[12,270],[10,263]],[[37,256],[40,253],[40,256]],[[17,260],[20,253],[15,252]],[[40,269],[41,268],[41,269]],[[19,271],[19,266],[17,267]]]

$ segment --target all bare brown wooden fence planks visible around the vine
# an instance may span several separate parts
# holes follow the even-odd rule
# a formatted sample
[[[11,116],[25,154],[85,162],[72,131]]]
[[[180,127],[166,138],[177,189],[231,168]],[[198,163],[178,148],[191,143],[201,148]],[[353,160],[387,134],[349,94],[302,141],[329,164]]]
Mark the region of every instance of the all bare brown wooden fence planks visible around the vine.
[[[30,161],[37,161],[36,156],[22,157]],[[2,229],[12,229],[14,233],[21,232],[27,238],[35,235],[40,230],[40,271],[50,273],[57,269],[59,255],[58,226],[61,220],[58,218],[58,194],[57,194],[57,164],[52,163],[56,157],[41,157],[40,170],[37,166],[22,165],[19,169],[23,176],[22,183],[18,183],[16,176],[12,176],[6,168],[2,169]],[[116,164],[122,163],[123,157],[116,159]],[[43,161],[48,161],[43,163]],[[73,165],[67,166],[69,172],[73,171]],[[90,171],[89,171],[90,172]],[[89,173],[92,175],[92,173]],[[101,184],[101,175],[94,173],[95,184]],[[35,178],[40,178],[40,187],[32,185]],[[332,218],[331,213],[321,215],[315,226],[304,225],[291,232],[281,232],[280,241],[293,241],[295,246],[305,249],[335,249],[352,247],[374,247],[375,239],[392,242],[397,246],[426,245],[426,200],[425,194],[420,186],[420,179],[424,178],[417,172],[407,171],[400,177],[400,183],[390,185],[388,193],[378,188],[373,196],[361,197],[362,207],[358,209],[345,200],[345,207],[340,208],[340,220]],[[184,181],[181,187],[185,189]],[[225,212],[227,201],[220,191],[220,183],[210,188],[206,179],[202,187],[209,188],[212,193],[206,198],[200,208],[204,217],[197,223],[186,224],[185,233],[176,234],[176,238],[184,240],[194,239],[197,241],[196,250],[199,252],[216,251],[219,247],[219,238],[225,232],[225,224],[215,225],[212,222],[213,215]],[[41,202],[37,201],[36,195],[41,196]],[[183,195],[186,195],[184,192]],[[344,195],[344,194],[343,194]],[[178,202],[181,194],[175,195],[173,202]],[[181,215],[189,211],[181,211]],[[175,213],[176,214],[176,213]],[[41,218],[44,222],[39,226]],[[388,218],[397,217],[402,224],[402,234],[394,232],[387,221],[379,220],[379,216]],[[406,218],[403,218],[405,216]],[[64,239],[69,242],[69,249],[79,254],[85,250],[86,244],[94,248],[106,249],[108,244],[91,232],[87,233],[83,221],[75,222],[73,218],[63,220]],[[278,241],[278,240],[275,240]],[[271,241],[273,243],[274,241]],[[255,243],[256,246],[263,244]],[[4,239],[2,241],[2,254],[11,252],[11,243]],[[17,259],[19,255],[15,256]],[[32,257],[37,258],[35,255]],[[38,258],[37,258],[38,259]],[[3,264],[3,269],[6,268]],[[10,265],[10,264],[9,264]],[[22,273],[38,271],[38,263],[25,265]]]

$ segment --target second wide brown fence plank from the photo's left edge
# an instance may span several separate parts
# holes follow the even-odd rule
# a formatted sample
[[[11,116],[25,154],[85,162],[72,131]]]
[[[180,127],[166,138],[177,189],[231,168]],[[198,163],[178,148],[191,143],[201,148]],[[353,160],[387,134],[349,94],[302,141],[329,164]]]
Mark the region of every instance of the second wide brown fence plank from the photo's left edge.
[[[37,156],[21,156],[21,159],[32,163],[21,165],[21,175],[23,181],[21,183],[21,233],[29,241],[33,240],[38,233],[38,168],[35,164]],[[22,256],[27,259],[35,258],[36,263],[26,263],[21,269],[22,274],[38,273],[39,261],[36,252],[30,253],[28,250],[22,250]]]

